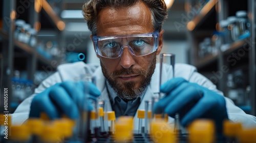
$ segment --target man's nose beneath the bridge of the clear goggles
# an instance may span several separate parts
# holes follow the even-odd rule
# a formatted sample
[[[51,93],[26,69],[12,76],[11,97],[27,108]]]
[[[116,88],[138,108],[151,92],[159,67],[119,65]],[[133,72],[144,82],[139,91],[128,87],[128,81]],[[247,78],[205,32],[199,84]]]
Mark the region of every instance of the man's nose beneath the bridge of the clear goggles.
[[[128,69],[135,64],[134,57],[135,56],[131,53],[129,47],[124,47],[119,63],[123,68]]]

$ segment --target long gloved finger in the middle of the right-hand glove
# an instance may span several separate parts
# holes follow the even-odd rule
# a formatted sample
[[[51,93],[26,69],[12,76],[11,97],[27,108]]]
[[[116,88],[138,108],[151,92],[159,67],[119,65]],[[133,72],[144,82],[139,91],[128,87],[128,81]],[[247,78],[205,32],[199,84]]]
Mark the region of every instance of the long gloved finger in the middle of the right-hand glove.
[[[164,109],[164,113],[174,117],[175,113],[179,110],[186,109],[188,103],[197,102],[203,95],[203,92],[199,92],[200,89],[193,85],[188,85],[176,98],[169,101],[169,104]],[[200,93],[200,94],[199,94]],[[190,107],[191,108],[191,107]]]

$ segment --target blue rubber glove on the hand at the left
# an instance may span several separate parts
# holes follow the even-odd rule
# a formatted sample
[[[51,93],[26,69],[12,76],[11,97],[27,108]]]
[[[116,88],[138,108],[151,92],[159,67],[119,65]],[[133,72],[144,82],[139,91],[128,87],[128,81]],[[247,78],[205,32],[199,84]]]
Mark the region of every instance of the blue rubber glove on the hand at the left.
[[[89,95],[85,95],[86,90]],[[60,118],[62,115],[76,119],[79,117],[79,109],[92,110],[92,103],[83,100],[84,97],[96,99],[100,94],[97,87],[89,81],[56,83],[33,98],[29,117],[39,118],[40,113],[45,112],[50,119]]]

